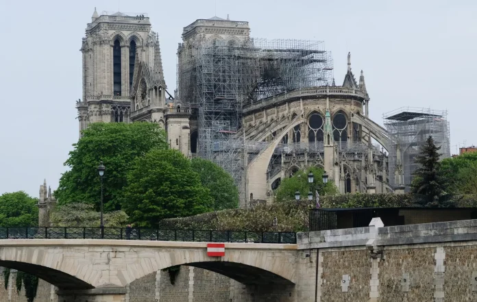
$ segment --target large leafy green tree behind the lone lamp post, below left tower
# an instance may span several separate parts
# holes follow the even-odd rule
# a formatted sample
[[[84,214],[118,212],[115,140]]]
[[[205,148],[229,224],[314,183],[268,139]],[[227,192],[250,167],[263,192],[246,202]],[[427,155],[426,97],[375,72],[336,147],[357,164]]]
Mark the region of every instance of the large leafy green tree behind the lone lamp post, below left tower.
[[[64,163],[71,168],[60,179],[55,197],[60,205],[88,203],[99,210],[99,162],[106,166],[104,210],[120,210],[126,175],[134,159],[153,148],[167,149],[164,130],[154,123],[93,123],[83,132]]]

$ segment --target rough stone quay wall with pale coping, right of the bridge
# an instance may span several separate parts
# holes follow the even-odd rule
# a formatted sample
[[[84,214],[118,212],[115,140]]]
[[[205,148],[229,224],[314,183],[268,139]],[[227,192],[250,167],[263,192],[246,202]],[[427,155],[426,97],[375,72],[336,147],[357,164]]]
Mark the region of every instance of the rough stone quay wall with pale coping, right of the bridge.
[[[477,301],[477,220],[300,233],[318,249],[317,301]]]

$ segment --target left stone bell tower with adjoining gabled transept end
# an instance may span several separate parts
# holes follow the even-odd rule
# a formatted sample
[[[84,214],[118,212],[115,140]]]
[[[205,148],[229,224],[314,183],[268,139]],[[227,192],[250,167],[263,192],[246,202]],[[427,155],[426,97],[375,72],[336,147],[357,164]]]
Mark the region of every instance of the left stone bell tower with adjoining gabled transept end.
[[[95,10],[81,51],[80,134],[90,123],[148,121],[167,129],[171,147],[189,155],[190,114],[167,94],[159,38],[148,17]]]

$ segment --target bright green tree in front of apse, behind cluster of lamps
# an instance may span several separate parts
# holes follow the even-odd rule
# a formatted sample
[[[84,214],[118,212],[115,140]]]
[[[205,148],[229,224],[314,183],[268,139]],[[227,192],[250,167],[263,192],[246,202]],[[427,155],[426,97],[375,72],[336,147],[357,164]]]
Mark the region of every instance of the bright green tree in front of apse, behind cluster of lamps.
[[[313,173],[315,180],[310,186],[308,184],[308,173]],[[295,192],[299,191],[302,199],[308,198],[308,192],[311,190],[315,199],[315,191],[318,191],[320,196],[338,194],[337,186],[334,186],[332,181],[323,184],[323,169],[314,166],[308,167],[306,170],[301,170],[295,173],[293,177],[282,180],[275,192],[275,200],[278,202],[294,200]]]

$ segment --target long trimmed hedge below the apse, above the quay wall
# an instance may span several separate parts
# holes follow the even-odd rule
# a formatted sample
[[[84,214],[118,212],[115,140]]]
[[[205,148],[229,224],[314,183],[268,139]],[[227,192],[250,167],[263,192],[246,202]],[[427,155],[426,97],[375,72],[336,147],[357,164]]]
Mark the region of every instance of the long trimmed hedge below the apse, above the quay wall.
[[[342,194],[321,197],[321,207],[411,207],[411,194]],[[236,231],[306,231],[312,201],[284,201],[209,212],[184,218],[164,219],[163,229],[200,229]],[[276,218],[276,219],[275,219]],[[276,222],[276,223],[275,223]]]

